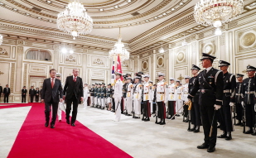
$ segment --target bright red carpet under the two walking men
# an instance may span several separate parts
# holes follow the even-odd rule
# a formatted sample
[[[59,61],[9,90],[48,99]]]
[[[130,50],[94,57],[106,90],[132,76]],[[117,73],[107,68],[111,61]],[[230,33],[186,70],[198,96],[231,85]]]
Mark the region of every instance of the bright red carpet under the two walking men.
[[[62,117],[65,118],[64,113]],[[76,127],[71,127],[63,118],[62,122],[56,122],[54,129],[44,127],[44,104],[33,104],[8,157],[132,157],[80,122],[75,122]]]

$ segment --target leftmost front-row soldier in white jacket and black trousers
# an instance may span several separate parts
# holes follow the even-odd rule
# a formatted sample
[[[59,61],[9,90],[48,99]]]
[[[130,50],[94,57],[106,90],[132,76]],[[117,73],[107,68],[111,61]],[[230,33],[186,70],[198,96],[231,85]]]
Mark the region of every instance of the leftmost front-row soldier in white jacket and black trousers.
[[[143,85],[143,117],[142,121],[148,122],[150,121],[149,117],[151,117],[151,112],[150,112],[150,104],[149,100],[151,99],[151,86],[149,85],[149,75],[145,74],[144,76],[144,85]]]

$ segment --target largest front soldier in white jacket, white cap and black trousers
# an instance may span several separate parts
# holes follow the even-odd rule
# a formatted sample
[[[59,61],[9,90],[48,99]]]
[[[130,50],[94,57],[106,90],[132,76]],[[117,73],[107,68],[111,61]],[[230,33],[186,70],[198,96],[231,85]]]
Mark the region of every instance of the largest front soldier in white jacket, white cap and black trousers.
[[[160,118],[160,122],[156,122],[159,125],[165,125],[166,124],[166,106],[165,103],[167,103],[167,83],[165,83],[164,78],[165,74],[159,73],[158,74],[158,80],[157,83],[157,117]]]

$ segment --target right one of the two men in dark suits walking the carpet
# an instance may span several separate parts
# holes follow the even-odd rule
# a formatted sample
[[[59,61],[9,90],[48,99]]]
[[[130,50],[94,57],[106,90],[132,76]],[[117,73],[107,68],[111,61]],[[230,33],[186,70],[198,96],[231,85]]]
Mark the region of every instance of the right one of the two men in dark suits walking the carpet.
[[[73,75],[65,79],[65,86],[63,91],[63,98],[66,101],[65,119],[70,124],[71,104],[73,103],[73,112],[71,117],[71,126],[75,127],[75,120],[77,115],[77,107],[79,101],[84,99],[83,80],[78,77],[79,69],[73,69]]]

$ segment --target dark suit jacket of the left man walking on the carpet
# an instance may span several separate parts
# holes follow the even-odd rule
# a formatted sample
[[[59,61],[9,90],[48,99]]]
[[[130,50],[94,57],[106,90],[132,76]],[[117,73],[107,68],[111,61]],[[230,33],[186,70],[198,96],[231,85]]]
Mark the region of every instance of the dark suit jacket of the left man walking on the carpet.
[[[45,102],[51,102],[51,98],[54,103],[59,103],[60,98],[63,97],[63,89],[61,87],[60,79],[56,79],[53,88],[51,88],[51,78],[45,79],[43,87],[41,89],[41,99],[45,99]]]

